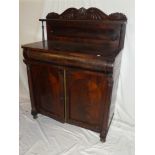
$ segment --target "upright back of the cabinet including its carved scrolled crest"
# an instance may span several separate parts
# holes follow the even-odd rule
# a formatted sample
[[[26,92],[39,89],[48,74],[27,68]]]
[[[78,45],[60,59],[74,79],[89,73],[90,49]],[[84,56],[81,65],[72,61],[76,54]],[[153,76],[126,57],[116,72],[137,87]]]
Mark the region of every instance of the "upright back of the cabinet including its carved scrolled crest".
[[[121,13],[105,14],[97,8],[69,8],[46,16],[47,40],[75,41],[121,50],[127,18]]]

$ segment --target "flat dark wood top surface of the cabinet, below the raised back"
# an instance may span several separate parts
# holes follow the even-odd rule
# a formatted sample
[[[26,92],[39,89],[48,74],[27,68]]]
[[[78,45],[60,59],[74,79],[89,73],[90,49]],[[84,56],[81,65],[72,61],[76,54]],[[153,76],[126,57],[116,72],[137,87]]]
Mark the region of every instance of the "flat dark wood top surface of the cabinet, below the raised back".
[[[66,56],[79,56],[94,59],[103,59],[114,61],[117,51],[108,46],[108,43],[103,45],[93,43],[68,42],[68,41],[40,41],[23,45],[22,48],[32,51],[58,54]]]

